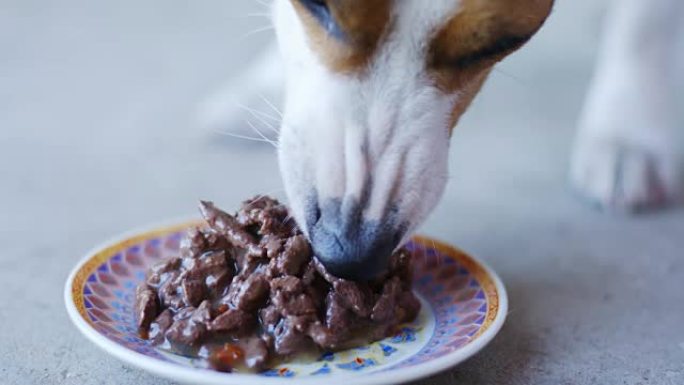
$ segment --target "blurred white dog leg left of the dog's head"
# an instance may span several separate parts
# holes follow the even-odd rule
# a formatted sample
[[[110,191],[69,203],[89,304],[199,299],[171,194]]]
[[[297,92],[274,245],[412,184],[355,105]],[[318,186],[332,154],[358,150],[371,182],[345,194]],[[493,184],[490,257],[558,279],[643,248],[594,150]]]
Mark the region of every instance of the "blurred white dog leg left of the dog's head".
[[[254,137],[263,134],[274,138],[280,113],[273,104],[279,104],[284,86],[282,61],[276,44],[244,67],[244,72],[199,105],[199,124],[229,135]]]

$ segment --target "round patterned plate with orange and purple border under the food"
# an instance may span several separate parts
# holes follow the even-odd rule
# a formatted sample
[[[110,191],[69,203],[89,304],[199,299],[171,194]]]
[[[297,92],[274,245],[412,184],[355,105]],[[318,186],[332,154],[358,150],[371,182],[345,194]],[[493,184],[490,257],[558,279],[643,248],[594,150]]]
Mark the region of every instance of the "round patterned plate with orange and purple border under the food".
[[[66,308],[83,335],[116,358],[161,377],[202,384],[397,384],[446,370],[477,353],[504,323],[508,300],[483,262],[445,243],[415,237],[414,291],[423,307],[396,335],[344,352],[288,362],[258,374],[220,373],[138,337],[135,287],[147,268],[176,255],[199,222],[135,231],[95,248],[69,275]]]

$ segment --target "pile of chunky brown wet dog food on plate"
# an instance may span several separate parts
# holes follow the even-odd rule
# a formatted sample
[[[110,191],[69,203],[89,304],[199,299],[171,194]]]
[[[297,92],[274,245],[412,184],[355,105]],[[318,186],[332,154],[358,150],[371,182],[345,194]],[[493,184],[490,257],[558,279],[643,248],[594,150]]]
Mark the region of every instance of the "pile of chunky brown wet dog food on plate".
[[[201,202],[206,226],[178,256],[150,268],[136,290],[141,336],[220,371],[265,369],[302,352],[346,349],[412,321],[409,254],[399,250],[370,282],[333,277],[278,201],[259,197],[235,215]]]

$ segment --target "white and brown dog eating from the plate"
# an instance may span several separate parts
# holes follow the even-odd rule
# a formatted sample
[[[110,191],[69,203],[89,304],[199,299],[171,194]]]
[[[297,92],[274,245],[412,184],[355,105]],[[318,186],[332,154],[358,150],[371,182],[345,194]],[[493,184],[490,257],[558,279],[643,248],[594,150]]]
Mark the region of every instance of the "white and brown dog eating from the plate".
[[[278,49],[227,89],[250,90],[241,95],[249,103],[285,84],[278,138],[285,192],[333,274],[369,279],[386,268],[391,252],[440,200],[459,117],[493,66],[539,31],[553,3],[274,0]],[[641,45],[651,48],[648,40],[661,36],[649,29],[670,17],[668,8],[681,7],[679,0],[621,3],[609,23],[571,174],[579,190],[606,205],[640,207],[673,193],[675,175],[670,126],[660,120],[664,104],[648,98],[667,79],[628,58],[638,48],[628,40],[642,34]],[[665,54],[660,49],[669,43],[659,44],[654,51]],[[634,84],[611,73],[624,60],[632,60],[620,66],[630,67]],[[641,87],[653,90],[624,93]],[[224,90],[205,104],[207,124],[235,120],[229,95]]]

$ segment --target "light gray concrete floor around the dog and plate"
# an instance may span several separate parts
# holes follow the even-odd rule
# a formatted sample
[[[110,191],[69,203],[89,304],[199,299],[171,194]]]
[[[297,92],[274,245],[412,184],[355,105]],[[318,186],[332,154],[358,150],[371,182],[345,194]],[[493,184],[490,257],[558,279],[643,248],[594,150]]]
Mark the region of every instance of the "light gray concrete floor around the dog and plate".
[[[486,259],[495,341],[427,384],[684,383],[684,212],[605,215],[566,187],[604,4],[560,2],[453,139],[422,231]],[[280,193],[273,150],[202,132],[194,104],[268,33],[252,1],[0,2],[0,383],[163,384],[69,323],[68,271],[131,227]],[[232,185],[222,176],[245,183]]]

